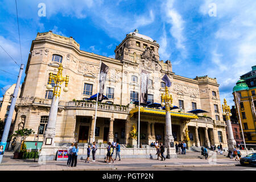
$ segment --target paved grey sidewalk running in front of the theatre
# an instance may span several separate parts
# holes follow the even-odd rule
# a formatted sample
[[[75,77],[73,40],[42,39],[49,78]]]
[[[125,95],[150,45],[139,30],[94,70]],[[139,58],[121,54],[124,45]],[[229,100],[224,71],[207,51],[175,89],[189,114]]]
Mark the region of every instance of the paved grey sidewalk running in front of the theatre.
[[[166,159],[165,161],[156,159],[122,159],[115,160],[115,163],[106,164],[104,159],[96,162],[85,163],[85,160],[77,160],[76,167],[67,167],[65,161],[47,161],[46,164],[39,164],[36,159],[12,159],[13,155],[7,154],[0,164],[0,171],[69,171],[69,170],[129,170],[134,168],[162,168],[162,167],[210,167],[210,166],[235,166],[239,162],[233,159],[216,159],[216,164],[209,163],[205,159]],[[97,159],[97,156],[96,156]],[[210,158],[209,158],[210,159]]]

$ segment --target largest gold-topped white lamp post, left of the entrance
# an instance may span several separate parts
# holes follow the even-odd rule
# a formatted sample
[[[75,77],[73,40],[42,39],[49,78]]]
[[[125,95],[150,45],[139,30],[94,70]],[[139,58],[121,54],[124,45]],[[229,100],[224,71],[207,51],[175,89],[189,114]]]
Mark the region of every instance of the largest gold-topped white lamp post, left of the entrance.
[[[52,73],[49,73],[49,82],[46,86],[47,89],[51,89],[52,85],[51,83],[54,82],[54,89],[53,89],[53,98],[52,98],[52,104],[49,111],[49,118],[48,123],[46,127],[46,131],[44,132],[44,140],[43,140],[43,146],[42,151],[40,153],[39,158],[46,157],[46,160],[53,160],[55,157],[55,126],[56,126],[56,119],[57,119],[57,112],[59,107],[59,97],[60,97],[60,91],[61,91],[61,84],[65,81],[65,87],[63,89],[64,92],[68,92],[68,80],[69,76],[62,76],[63,66],[60,64],[58,68],[57,75],[53,75]]]

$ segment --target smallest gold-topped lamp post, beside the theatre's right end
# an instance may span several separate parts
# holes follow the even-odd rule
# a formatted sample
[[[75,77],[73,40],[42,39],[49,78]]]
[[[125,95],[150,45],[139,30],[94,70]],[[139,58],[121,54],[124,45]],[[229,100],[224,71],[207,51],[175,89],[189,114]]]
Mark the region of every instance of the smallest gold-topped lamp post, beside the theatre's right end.
[[[223,110],[223,115],[226,117],[226,129],[228,130],[228,147],[229,150],[233,151],[234,146],[236,145],[236,140],[234,140],[234,135],[232,131],[232,126],[231,126],[231,121],[230,121],[230,116],[232,114],[230,113],[230,107],[226,104],[226,100],[224,98],[224,105],[222,104],[222,110]]]

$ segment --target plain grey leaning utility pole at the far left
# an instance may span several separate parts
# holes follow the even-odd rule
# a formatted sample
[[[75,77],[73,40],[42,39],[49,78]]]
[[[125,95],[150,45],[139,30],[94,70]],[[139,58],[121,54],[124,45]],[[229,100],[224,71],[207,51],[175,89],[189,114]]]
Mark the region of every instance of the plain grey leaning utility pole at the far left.
[[[9,114],[8,114],[8,117],[7,117],[6,123],[5,123],[5,129],[3,130],[3,136],[2,136],[0,145],[3,145],[4,148],[6,146],[7,138],[8,138],[10,127],[11,127],[11,120],[13,119],[13,112],[14,112],[16,100],[17,100],[18,93],[19,93],[19,84],[20,84],[20,80],[22,77],[23,68],[24,68],[24,64],[21,64],[20,69],[19,69],[19,76],[18,76],[16,86],[15,86],[15,89],[13,92],[13,99],[11,100]],[[2,163],[2,159],[3,159],[3,155],[0,155],[0,164]]]

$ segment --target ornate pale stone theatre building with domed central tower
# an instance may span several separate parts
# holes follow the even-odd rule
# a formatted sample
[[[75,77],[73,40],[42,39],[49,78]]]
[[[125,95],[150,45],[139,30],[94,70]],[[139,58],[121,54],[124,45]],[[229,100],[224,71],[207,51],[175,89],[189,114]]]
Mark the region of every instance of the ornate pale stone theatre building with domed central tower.
[[[69,76],[67,93],[61,91],[56,121],[56,146],[70,142],[93,142],[93,126],[96,102],[86,98],[97,93],[100,61],[109,67],[104,95],[108,100],[98,104],[96,120],[96,142],[116,140],[132,145],[130,131],[138,131],[138,101],[141,70],[149,72],[148,101],[161,103],[167,74],[171,80],[169,88],[174,105],[171,110],[172,134],[175,141],[186,138],[186,129],[191,146],[227,146],[225,122],[222,118],[220,95],[216,78],[201,76],[187,78],[172,72],[171,61],[159,60],[159,44],[138,30],[127,34],[115,48],[115,59],[80,50],[80,44],[72,37],[38,33],[32,41],[28,56],[26,77],[20,98],[16,102],[15,130],[19,123],[35,133],[39,129],[39,141],[46,130],[52,90],[46,85],[49,73],[57,73],[63,64],[63,76]],[[189,70],[187,70],[189,71]],[[54,86],[54,82],[51,83]],[[64,87],[64,84],[62,88]],[[202,109],[208,113],[198,116],[188,111]],[[164,142],[165,110],[141,107],[140,143]],[[34,135],[27,138],[33,141]]]

